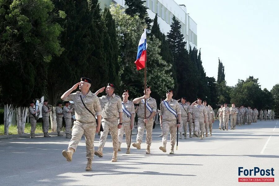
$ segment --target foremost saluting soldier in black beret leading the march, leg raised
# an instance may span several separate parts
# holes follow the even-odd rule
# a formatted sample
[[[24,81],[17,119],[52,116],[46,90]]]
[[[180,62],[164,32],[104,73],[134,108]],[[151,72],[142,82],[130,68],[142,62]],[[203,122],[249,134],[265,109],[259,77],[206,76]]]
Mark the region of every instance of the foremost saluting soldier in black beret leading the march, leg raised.
[[[73,153],[78,147],[82,135],[85,135],[87,165],[85,170],[92,170],[92,160],[94,158],[94,139],[95,133],[100,131],[102,108],[98,97],[92,93],[89,88],[92,80],[89,78],[80,78],[80,82],[66,91],[61,99],[64,101],[74,101],[76,121],[74,121],[72,138],[68,150],[63,150],[62,154],[67,161],[72,161]],[[79,86],[76,93],[71,94]],[[95,116],[98,122],[96,123]]]

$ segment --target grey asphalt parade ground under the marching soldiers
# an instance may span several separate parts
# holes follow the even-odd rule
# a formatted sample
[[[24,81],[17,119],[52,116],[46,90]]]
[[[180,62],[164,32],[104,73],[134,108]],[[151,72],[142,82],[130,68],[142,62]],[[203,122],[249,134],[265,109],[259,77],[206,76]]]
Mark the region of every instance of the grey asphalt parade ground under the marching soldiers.
[[[213,124],[211,137],[179,139],[178,150],[170,155],[170,135],[167,153],[162,145],[161,128],[153,130],[151,154],[145,154],[146,144],[140,150],[131,147],[126,154],[126,143],[121,145],[117,162],[111,162],[111,136],[104,147],[104,157],[94,157],[92,171],[85,171],[87,159],[85,138],[67,162],[62,150],[70,139],[52,136],[37,139],[0,139],[0,185],[279,185],[279,122],[258,121],[236,126],[236,130],[219,130],[219,121]],[[133,130],[136,133],[136,129]],[[95,136],[95,150],[100,136]],[[135,142],[136,136],[132,136]],[[144,136],[145,141],[145,136]],[[243,169],[274,169],[274,176],[238,176]],[[238,178],[274,178],[274,182],[238,182]]]

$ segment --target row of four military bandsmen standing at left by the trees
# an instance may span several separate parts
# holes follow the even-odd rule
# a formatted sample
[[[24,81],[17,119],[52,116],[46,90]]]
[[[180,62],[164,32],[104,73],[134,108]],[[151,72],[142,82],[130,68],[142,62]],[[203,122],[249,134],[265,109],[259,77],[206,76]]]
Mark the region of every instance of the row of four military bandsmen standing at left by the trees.
[[[65,105],[62,108],[62,102],[58,102],[56,108],[55,108],[55,115],[56,115],[56,122],[57,122],[57,136],[62,136],[60,131],[62,128],[62,121],[63,117],[65,120],[65,133],[66,133],[66,138],[71,138],[70,134],[70,129],[72,126],[72,112],[74,108],[70,108],[70,103],[69,101],[64,102]],[[31,123],[31,131],[30,131],[30,138],[37,138],[35,136],[35,130],[36,130],[36,124],[38,117],[36,117],[36,114],[40,113],[40,110],[35,110],[34,108],[34,102],[30,101],[29,103],[29,118],[30,118],[30,123]],[[42,122],[43,122],[43,133],[44,137],[51,137],[48,135],[48,130],[49,130],[49,117],[50,117],[50,111],[51,111],[51,106],[48,105],[48,100],[43,101],[42,105]]]

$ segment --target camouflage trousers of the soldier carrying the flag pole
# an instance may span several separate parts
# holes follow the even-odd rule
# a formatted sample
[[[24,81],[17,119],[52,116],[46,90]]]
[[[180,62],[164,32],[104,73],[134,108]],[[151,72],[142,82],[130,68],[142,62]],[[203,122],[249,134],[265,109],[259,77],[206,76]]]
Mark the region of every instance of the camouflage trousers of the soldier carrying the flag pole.
[[[138,134],[137,142],[142,141],[144,135],[144,129],[146,130],[146,144],[151,145],[152,142],[152,130],[153,130],[153,119],[149,120],[148,123],[145,123],[144,119],[138,118]]]

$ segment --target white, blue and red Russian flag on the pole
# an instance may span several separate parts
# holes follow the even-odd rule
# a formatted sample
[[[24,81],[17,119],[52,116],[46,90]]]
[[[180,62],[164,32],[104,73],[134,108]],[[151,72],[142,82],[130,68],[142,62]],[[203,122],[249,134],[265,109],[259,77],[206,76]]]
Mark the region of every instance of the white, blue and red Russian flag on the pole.
[[[146,48],[147,48],[146,29],[144,29],[144,33],[141,35],[141,38],[139,40],[137,60],[135,61],[137,70],[144,69],[144,67],[145,67]]]

